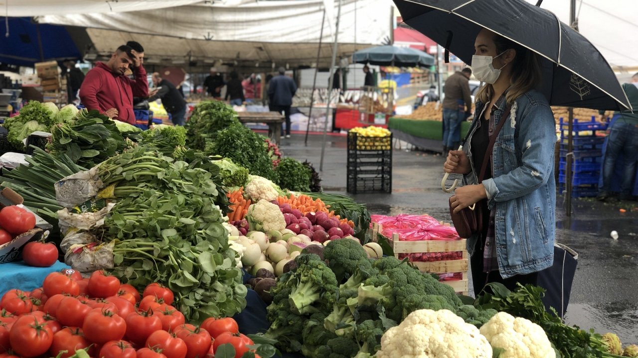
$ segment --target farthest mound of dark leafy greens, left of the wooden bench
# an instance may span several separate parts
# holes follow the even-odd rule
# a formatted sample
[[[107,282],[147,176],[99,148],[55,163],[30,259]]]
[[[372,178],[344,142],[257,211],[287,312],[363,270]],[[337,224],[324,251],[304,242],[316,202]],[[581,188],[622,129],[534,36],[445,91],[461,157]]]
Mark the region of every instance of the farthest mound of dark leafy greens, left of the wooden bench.
[[[239,124],[237,112],[221,101],[204,101],[193,109],[188,120],[188,147],[204,150],[218,132]],[[262,142],[263,143],[263,142]]]

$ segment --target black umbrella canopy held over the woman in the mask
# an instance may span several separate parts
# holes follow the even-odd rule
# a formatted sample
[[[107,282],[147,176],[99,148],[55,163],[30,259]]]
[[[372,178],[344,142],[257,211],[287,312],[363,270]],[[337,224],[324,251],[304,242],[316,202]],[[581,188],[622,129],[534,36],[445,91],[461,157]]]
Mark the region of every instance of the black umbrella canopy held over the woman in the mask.
[[[614,72],[588,39],[550,11],[520,0],[394,0],[403,21],[466,63],[489,29],[542,58],[539,90],[549,104],[595,110],[630,108]]]

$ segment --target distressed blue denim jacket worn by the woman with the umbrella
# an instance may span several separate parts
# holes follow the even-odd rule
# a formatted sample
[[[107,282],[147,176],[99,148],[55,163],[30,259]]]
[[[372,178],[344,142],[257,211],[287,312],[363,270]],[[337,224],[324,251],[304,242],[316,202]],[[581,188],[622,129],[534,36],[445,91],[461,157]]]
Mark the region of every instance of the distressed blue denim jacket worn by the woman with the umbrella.
[[[477,102],[474,120],[484,103]],[[495,126],[507,109],[505,101],[494,106]],[[503,278],[527,274],[552,266],[556,235],[556,182],[554,180],[554,145],[556,127],[547,99],[531,90],[512,104],[510,117],[496,138],[492,151],[493,178],[483,181],[490,210],[496,210],[496,256]],[[477,183],[470,143],[476,130],[472,125],[464,151],[471,172],[464,183]],[[468,242],[473,254],[479,235]]]

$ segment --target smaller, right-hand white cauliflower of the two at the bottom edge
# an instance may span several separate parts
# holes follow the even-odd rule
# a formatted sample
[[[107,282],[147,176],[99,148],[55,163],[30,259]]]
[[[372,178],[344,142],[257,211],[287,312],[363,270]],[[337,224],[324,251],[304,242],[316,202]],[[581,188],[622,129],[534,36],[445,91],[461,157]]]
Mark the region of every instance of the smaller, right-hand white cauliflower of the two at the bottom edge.
[[[530,320],[499,312],[480,327],[493,348],[503,348],[500,358],[556,358],[545,331]]]

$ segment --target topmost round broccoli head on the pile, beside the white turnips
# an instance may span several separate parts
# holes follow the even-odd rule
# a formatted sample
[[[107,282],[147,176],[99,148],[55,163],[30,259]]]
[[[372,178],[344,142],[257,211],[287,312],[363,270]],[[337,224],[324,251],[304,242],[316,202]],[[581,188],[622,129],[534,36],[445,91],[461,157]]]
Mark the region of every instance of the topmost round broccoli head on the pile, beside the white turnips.
[[[357,241],[350,239],[330,241],[323,250],[323,257],[328,260],[339,283],[344,283],[353,275],[360,264],[363,264],[362,261],[369,263],[366,250]]]

